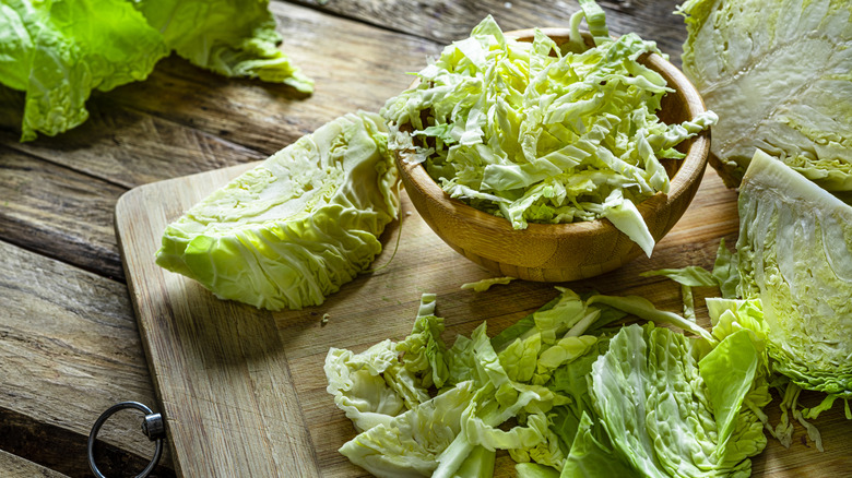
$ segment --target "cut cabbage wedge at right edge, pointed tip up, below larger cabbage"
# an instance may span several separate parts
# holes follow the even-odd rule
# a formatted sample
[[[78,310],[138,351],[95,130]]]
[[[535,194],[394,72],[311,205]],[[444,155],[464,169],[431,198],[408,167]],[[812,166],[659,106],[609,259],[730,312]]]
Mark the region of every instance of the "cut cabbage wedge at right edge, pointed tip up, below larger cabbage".
[[[741,294],[759,298],[774,370],[852,398],[852,206],[757,151],[739,190]]]

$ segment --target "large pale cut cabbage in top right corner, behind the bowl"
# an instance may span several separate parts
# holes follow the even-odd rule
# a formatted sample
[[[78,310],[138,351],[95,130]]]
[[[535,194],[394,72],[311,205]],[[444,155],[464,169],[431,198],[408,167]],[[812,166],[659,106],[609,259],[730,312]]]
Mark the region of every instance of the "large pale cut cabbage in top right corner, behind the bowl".
[[[708,108],[711,164],[739,183],[756,148],[852,190],[852,3],[688,0],[684,73]]]

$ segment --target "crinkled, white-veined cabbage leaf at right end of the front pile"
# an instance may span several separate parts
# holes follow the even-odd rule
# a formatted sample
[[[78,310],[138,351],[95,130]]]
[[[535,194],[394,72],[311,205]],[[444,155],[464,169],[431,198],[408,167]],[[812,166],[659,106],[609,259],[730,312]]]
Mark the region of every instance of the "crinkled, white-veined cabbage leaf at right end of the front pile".
[[[700,360],[693,347],[653,324],[622,328],[592,366],[595,410],[616,454],[639,476],[747,476],[747,458],[766,446],[757,417],[739,414],[757,350],[745,331]]]

